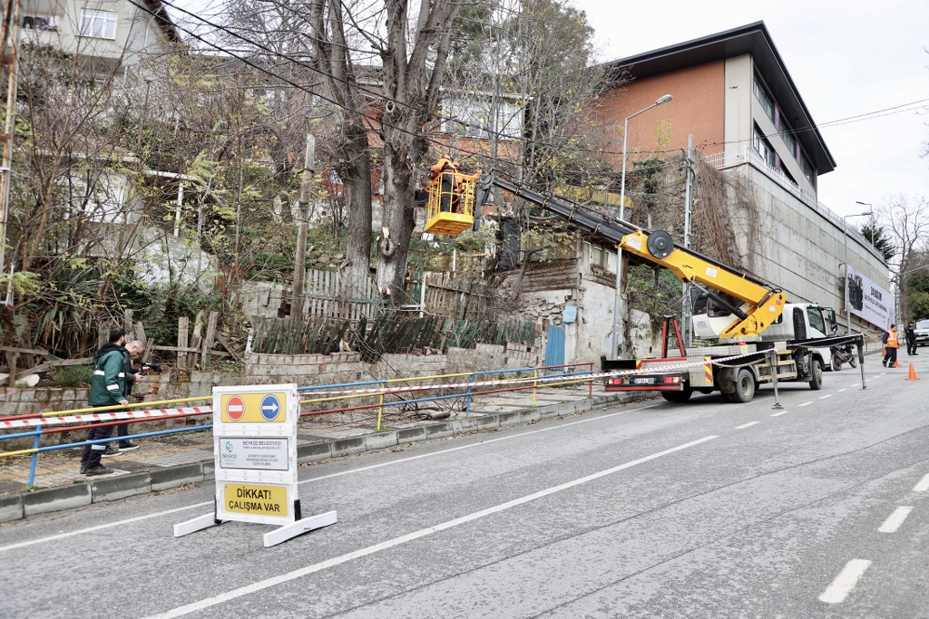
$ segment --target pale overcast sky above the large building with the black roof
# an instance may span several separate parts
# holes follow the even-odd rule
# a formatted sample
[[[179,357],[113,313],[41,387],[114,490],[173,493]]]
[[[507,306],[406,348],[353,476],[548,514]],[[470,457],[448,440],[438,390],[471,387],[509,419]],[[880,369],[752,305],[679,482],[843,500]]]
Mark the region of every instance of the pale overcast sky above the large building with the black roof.
[[[764,20],[816,123],[929,99],[929,0],[573,0],[601,60]],[[626,24],[630,24],[628,27]],[[929,101],[927,101],[929,105]],[[819,201],[841,215],[897,195],[929,199],[929,107],[824,127],[836,169]],[[849,223],[851,223],[850,220]]]

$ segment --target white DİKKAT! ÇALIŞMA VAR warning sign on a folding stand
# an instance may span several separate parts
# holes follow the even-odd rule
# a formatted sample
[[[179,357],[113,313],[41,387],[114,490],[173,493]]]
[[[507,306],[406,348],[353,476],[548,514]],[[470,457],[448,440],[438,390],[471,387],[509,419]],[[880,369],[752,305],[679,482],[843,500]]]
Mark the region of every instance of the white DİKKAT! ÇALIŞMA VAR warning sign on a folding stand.
[[[335,511],[303,517],[296,485],[296,385],[216,387],[213,390],[213,513],[175,524],[189,535],[227,521],[282,526],[265,534],[265,547],[337,522]]]

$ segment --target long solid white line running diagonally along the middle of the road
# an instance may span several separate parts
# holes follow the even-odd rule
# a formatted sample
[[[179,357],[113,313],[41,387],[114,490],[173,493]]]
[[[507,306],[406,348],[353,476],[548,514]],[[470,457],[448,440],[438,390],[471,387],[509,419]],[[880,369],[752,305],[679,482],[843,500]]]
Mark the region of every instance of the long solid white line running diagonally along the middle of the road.
[[[307,565],[307,567],[300,568],[299,570],[294,570],[293,572],[288,572],[286,574],[273,576],[265,580],[260,580],[256,583],[252,583],[251,585],[246,585],[245,587],[239,587],[236,589],[232,589],[231,591],[226,591],[225,593],[220,593],[211,598],[205,598],[204,600],[199,600],[199,601],[192,602],[190,604],[186,604],[184,606],[179,606],[175,609],[166,611],[164,613],[154,614],[154,615],[151,615],[149,619],[171,619],[173,617],[180,617],[180,616],[183,616],[189,613],[196,613],[197,611],[202,611],[203,609],[216,606],[216,604],[222,604],[223,602],[227,602],[229,600],[235,600],[236,598],[241,598],[242,596],[246,596],[250,593],[255,593],[256,591],[267,589],[268,587],[274,587],[276,585],[281,585],[282,583],[289,582],[296,578],[301,578],[308,574],[314,574],[316,572],[321,572],[322,570],[326,570],[328,568],[334,567],[335,565],[346,563],[347,561],[353,561],[355,559],[360,559],[361,557],[367,557],[368,555],[372,555],[376,552],[380,552],[381,550],[386,550],[387,548],[395,548],[397,546],[400,546],[401,544],[406,544],[407,542],[412,542],[415,539],[419,539],[420,537],[425,537],[426,535],[432,535],[440,531],[445,531],[445,530],[454,528],[456,526],[460,526],[466,522],[473,522],[480,518],[484,518],[485,516],[490,516],[492,514],[499,513],[506,509],[515,508],[525,503],[529,503],[530,501],[534,501],[538,498],[542,498],[543,496],[554,495],[558,492],[568,490],[569,488],[573,488],[581,484],[586,484],[587,482],[592,482],[596,479],[605,477],[614,472],[622,471],[624,469],[629,469],[631,467],[634,467],[637,464],[642,464],[643,462],[648,462],[648,460],[653,460],[655,458],[661,458],[662,456],[673,454],[676,451],[681,451],[683,449],[687,449],[688,447],[693,447],[695,445],[700,445],[701,443],[706,443],[707,441],[711,441],[714,438],[718,438],[718,436],[712,436],[712,435],[704,436],[703,438],[699,440],[691,441],[690,443],[686,443],[684,445],[677,445],[676,447],[672,447],[671,449],[665,449],[664,451],[660,451],[650,456],[646,456],[645,458],[638,458],[636,460],[632,460],[631,462],[626,462],[625,464],[621,464],[617,467],[607,469],[606,471],[595,472],[592,475],[587,475],[580,479],[576,479],[573,482],[568,482],[566,484],[559,484],[556,486],[552,486],[551,488],[546,488],[545,490],[532,493],[531,495],[521,496],[512,501],[507,501],[506,503],[495,505],[492,508],[481,509],[480,511],[475,511],[474,513],[470,513],[466,516],[462,516],[461,518],[455,518],[454,520],[441,522],[439,524],[436,524],[435,526],[430,526],[425,529],[420,529],[419,531],[414,531],[411,534],[400,535],[399,537],[388,539],[386,542],[381,542],[380,544],[374,544],[373,546],[369,546],[367,548],[360,548],[360,550],[349,552],[340,557],[334,557],[333,559],[329,559],[327,561],[321,561],[320,563],[315,563],[313,565]]]

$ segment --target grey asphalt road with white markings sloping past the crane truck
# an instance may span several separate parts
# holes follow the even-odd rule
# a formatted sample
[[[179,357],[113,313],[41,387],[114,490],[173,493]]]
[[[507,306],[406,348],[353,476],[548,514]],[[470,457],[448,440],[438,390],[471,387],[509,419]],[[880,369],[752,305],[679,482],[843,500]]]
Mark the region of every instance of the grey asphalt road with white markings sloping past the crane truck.
[[[763,388],[304,467],[304,514],[339,522],[274,548],[172,536],[211,484],[15,522],[0,617],[929,617],[916,358],[783,386],[786,412]]]

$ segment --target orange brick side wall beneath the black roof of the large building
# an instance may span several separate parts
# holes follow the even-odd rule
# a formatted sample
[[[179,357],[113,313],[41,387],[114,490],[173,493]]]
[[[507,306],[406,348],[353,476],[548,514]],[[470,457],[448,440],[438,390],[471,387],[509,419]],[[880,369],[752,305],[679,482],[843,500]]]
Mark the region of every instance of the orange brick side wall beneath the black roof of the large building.
[[[655,130],[661,121],[671,122],[669,142],[663,148],[687,148],[687,134],[694,145],[719,144],[703,154],[723,150],[723,122],[726,97],[725,62],[718,60],[697,67],[634,80],[600,98],[598,120],[603,123],[604,150],[622,152],[622,123],[629,114],[648,108],[663,95],[674,100],[629,121],[627,152],[657,149]],[[617,168],[621,155],[612,156]]]

